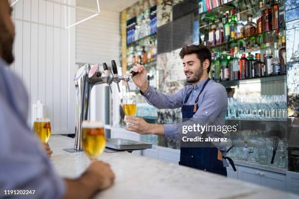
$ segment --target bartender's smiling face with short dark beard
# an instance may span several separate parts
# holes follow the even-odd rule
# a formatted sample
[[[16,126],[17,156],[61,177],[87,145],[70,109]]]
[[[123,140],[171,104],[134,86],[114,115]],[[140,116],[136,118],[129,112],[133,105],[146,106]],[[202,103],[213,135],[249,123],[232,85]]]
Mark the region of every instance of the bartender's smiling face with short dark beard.
[[[196,83],[200,80],[203,74],[203,68],[195,53],[185,55],[183,58],[183,65],[188,83]]]

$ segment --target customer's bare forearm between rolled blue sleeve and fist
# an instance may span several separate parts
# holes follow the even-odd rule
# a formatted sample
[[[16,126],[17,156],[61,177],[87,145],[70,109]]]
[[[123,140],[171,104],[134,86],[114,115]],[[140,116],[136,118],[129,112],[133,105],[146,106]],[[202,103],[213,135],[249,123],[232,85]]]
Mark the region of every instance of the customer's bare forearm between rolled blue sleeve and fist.
[[[65,194],[63,199],[89,199],[97,191],[97,180],[85,173],[79,179],[64,179]]]

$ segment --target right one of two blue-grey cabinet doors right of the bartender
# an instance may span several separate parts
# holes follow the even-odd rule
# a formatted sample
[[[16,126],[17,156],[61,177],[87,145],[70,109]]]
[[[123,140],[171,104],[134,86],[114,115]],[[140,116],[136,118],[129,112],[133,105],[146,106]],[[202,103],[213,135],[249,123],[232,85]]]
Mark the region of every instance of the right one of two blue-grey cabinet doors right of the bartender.
[[[260,171],[261,184],[266,187],[286,191],[286,176],[273,172]]]

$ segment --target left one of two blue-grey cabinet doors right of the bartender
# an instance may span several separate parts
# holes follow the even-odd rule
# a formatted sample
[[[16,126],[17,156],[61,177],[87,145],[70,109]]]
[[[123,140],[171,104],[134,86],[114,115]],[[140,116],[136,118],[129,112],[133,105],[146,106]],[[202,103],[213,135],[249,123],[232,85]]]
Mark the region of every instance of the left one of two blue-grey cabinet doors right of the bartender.
[[[259,171],[247,167],[238,166],[238,179],[261,185],[261,176]]]

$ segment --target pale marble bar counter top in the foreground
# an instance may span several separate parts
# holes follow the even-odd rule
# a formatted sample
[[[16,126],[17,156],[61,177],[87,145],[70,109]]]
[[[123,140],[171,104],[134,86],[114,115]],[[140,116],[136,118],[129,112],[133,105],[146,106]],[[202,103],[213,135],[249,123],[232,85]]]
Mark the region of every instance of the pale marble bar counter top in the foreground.
[[[49,140],[51,158],[58,174],[77,178],[90,164],[84,152],[68,153],[74,139],[53,135]],[[209,172],[172,164],[128,152],[103,153],[100,158],[115,173],[113,186],[96,199],[298,199],[299,196],[227,179]]]

